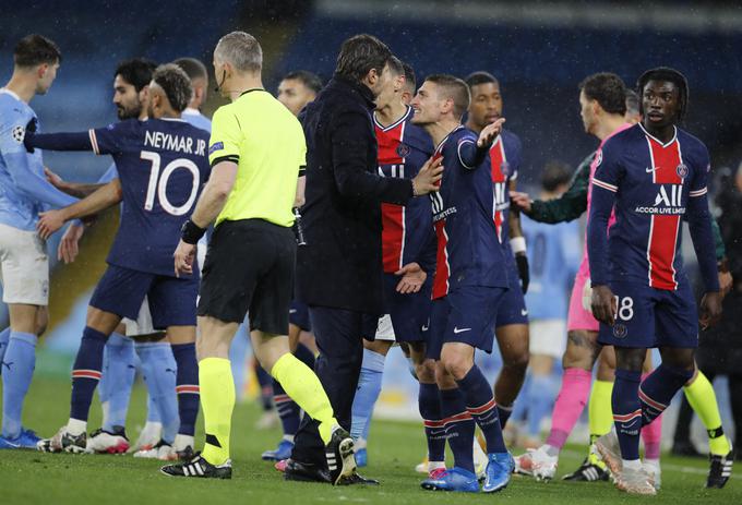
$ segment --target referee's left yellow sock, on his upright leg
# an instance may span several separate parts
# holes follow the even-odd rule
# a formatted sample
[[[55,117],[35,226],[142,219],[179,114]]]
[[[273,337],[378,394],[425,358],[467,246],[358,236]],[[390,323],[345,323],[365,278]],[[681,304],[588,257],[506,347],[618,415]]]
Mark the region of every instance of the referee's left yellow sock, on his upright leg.
[[[235,409],[235,380],[229,360],[206,358],[199,361],[201,409],[206,444],[202,456],[212,465],[229,459],[229,432]]]

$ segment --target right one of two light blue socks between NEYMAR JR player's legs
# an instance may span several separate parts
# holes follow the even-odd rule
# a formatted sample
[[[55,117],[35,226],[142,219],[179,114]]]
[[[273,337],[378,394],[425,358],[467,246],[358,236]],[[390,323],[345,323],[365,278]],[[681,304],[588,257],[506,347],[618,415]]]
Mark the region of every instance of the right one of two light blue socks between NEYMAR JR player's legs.
[[[142,361],[142,373],[149,393],[148,407],[159,414],[163,440],[172,444],[180,426],[176,394],[178,366],[172,349],[168,342],[137,342],[136,353]]]

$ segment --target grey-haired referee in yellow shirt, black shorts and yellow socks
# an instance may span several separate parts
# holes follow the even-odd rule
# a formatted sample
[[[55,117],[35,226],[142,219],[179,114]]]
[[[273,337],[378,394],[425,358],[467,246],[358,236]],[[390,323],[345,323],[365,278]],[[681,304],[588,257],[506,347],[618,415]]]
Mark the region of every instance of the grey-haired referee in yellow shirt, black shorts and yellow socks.
[[[255,357],[320,423],[330,477],[338,484],[355,472],[352,440],[314,372],[289,352],[287,336],[297,247],[291,207],[307,145],[299,121],[263,88],[262,62],[260,44],[244,32],[224,36],[214,50],[217,88],[231,104],[214,115],[211,178],[175,252],[176,274],[191,273],[195,244],[216,221],[203,267],[196,342],[206,443],[190,462],[161,471],[231,478],[235,383],[228,350],[249,310]]]

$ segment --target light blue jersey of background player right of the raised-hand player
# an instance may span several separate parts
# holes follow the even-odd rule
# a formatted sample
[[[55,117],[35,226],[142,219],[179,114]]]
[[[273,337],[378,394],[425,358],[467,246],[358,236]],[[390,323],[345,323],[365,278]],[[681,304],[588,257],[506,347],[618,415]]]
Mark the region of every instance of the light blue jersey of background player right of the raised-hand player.
[[[528,315],[531,320],[564,320],[582,255],[579,225],[577,221],[547,225],[524,215],[522,226],[530,266]]]

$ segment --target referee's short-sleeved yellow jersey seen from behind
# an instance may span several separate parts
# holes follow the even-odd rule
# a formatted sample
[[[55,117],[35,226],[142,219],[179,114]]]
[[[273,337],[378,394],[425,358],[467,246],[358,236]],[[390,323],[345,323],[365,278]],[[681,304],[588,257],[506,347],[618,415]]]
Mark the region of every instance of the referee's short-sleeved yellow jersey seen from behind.
[[[294,224],[299,168],[306,165],[304,132],[296,117],[265,89],[250,89],[219,107],[212,119],[208,160],[238,165],[235,187],[216,218]]]

